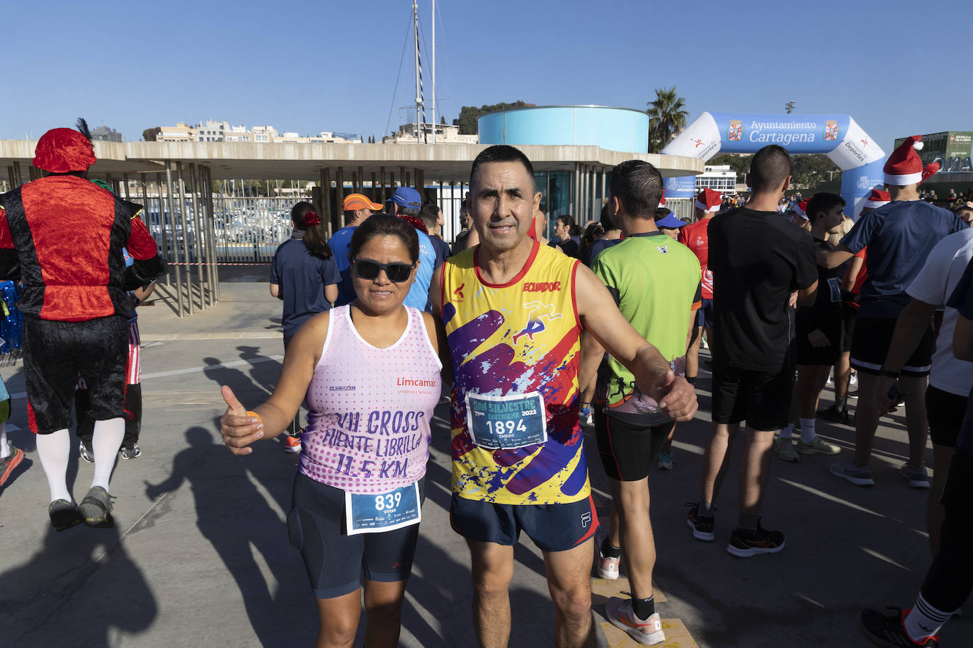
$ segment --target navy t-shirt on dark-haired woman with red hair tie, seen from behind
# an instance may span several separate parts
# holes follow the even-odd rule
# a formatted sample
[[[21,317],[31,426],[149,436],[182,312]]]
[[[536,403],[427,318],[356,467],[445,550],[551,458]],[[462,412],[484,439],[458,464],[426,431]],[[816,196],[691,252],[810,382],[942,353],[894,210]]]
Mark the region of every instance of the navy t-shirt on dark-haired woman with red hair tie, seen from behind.
[[[311,255],[300,235],[280,244],[270,264],[270,283],[280,287],[283,297],[281,324],[284,326],[285,342],[312,315],[331,308],[324,298],[324,287],[341,281],[335,256],[324,259]]]

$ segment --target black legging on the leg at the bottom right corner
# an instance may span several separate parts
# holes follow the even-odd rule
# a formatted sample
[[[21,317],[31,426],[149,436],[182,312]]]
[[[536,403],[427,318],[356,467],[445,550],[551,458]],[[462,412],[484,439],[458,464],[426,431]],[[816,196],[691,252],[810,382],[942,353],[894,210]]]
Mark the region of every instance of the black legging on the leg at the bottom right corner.
[[[973,455],[956,449],[943,489],[946,517],[939,553],[925,574],[922,597],[953,612],[973,590]]]

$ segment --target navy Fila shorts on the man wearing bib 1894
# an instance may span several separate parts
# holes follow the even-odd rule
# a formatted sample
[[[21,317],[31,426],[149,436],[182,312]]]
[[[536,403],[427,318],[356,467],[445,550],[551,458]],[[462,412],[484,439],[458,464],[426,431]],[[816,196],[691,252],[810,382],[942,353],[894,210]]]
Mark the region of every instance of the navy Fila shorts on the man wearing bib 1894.
[[[523,529],[541,551],[566,551],[595,535],[598,514],[591,495],[568,504],[494,504],[453,493],[450,524],[475,542],[512,546]]]

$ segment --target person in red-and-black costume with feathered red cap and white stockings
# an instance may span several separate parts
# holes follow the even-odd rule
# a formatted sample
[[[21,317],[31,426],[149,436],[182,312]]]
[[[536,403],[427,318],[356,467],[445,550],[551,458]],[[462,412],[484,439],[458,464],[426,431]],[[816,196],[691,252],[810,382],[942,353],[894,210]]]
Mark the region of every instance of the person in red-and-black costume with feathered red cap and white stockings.
[[[85,522],[111,527],[109,479],[125,434],[126,248],[162,273],[139,205],[86,180],[94,163],[87,125],[41,137],[34,166],[49,175],[0,195],[0,248],[17,251],[23,283],[23,368],[27,423],[51,489],[54,529]],[[90,388],[94,479],[76,506],[67,488],[73,394],[78,374]]]

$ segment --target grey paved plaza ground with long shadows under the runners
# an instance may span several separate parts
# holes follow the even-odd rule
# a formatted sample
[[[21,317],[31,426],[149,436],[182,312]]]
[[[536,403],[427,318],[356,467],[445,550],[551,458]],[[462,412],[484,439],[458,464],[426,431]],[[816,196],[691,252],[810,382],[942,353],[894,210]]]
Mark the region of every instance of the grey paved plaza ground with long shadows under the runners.
[[[192,317],[175,317],[165,287],[155,305],[139,309],[143,454],[115,469],[115,529],[51,528],[47,481],[26,425],[22,366],[0,367],[14,397],[10,438],[27,454],[0,489],[0,645],[313,645],[317,611],[284,524],[297,457],[266,441],[237,458],[219,441],[220,385],[252,407],[270,393],[283,354],[280,305],[270,297],[266,269],[235,270],[233,277],[223,273],[221,302]],[[695,540],[685,521],[684,504],[699,496],[709,389],[703,371],[700,413],[676,428],[674,469],[650,474],[666,645],[871,645],[859,628],[861,607],[911,606],[930,563],[927,492],[911,490],[897,474],[907,453],[902,412],[883,419],[874,488],[831,476],[834,458],[774,458],[764,525],[786,533],[786,548],[739,559],[726,551],[737,518],[736,469],[717,502],[716,542]],[[469,554],[449,524],[448,416],[441,404],[403,611],[404,646],[475,645]],[[842,446],[840,459],[847,457],[853,430],[817,425]],[[586,441],[607,521],[608,487],[591,427]],[[741,447],[740,434],[738,455]],[[75,447],[68,484],[76,498],[91,474]],[[550,646],[554,607],[541,554],[525,540],[515,558],[510,645]],[[601,616],[604,597],[618,596],[627,583],[595,580],[593,588],[595,618],[606,627],[600,645],[635,645]],[[963,646],[970,636],[968,614],[951,621],[941,640]]]

